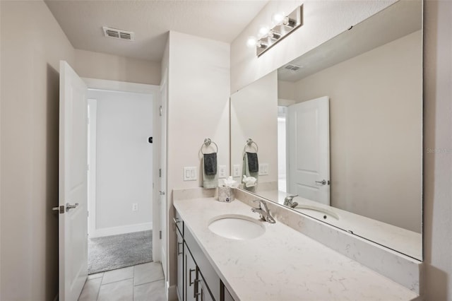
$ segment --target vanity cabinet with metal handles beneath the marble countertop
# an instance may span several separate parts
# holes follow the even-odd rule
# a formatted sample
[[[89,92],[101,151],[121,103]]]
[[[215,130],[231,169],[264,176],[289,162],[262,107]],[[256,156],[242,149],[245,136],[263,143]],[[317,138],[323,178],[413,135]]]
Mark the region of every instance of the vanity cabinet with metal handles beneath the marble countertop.
[[[231,300],[213,266],[176,211],[177,297],[179,301]]]

